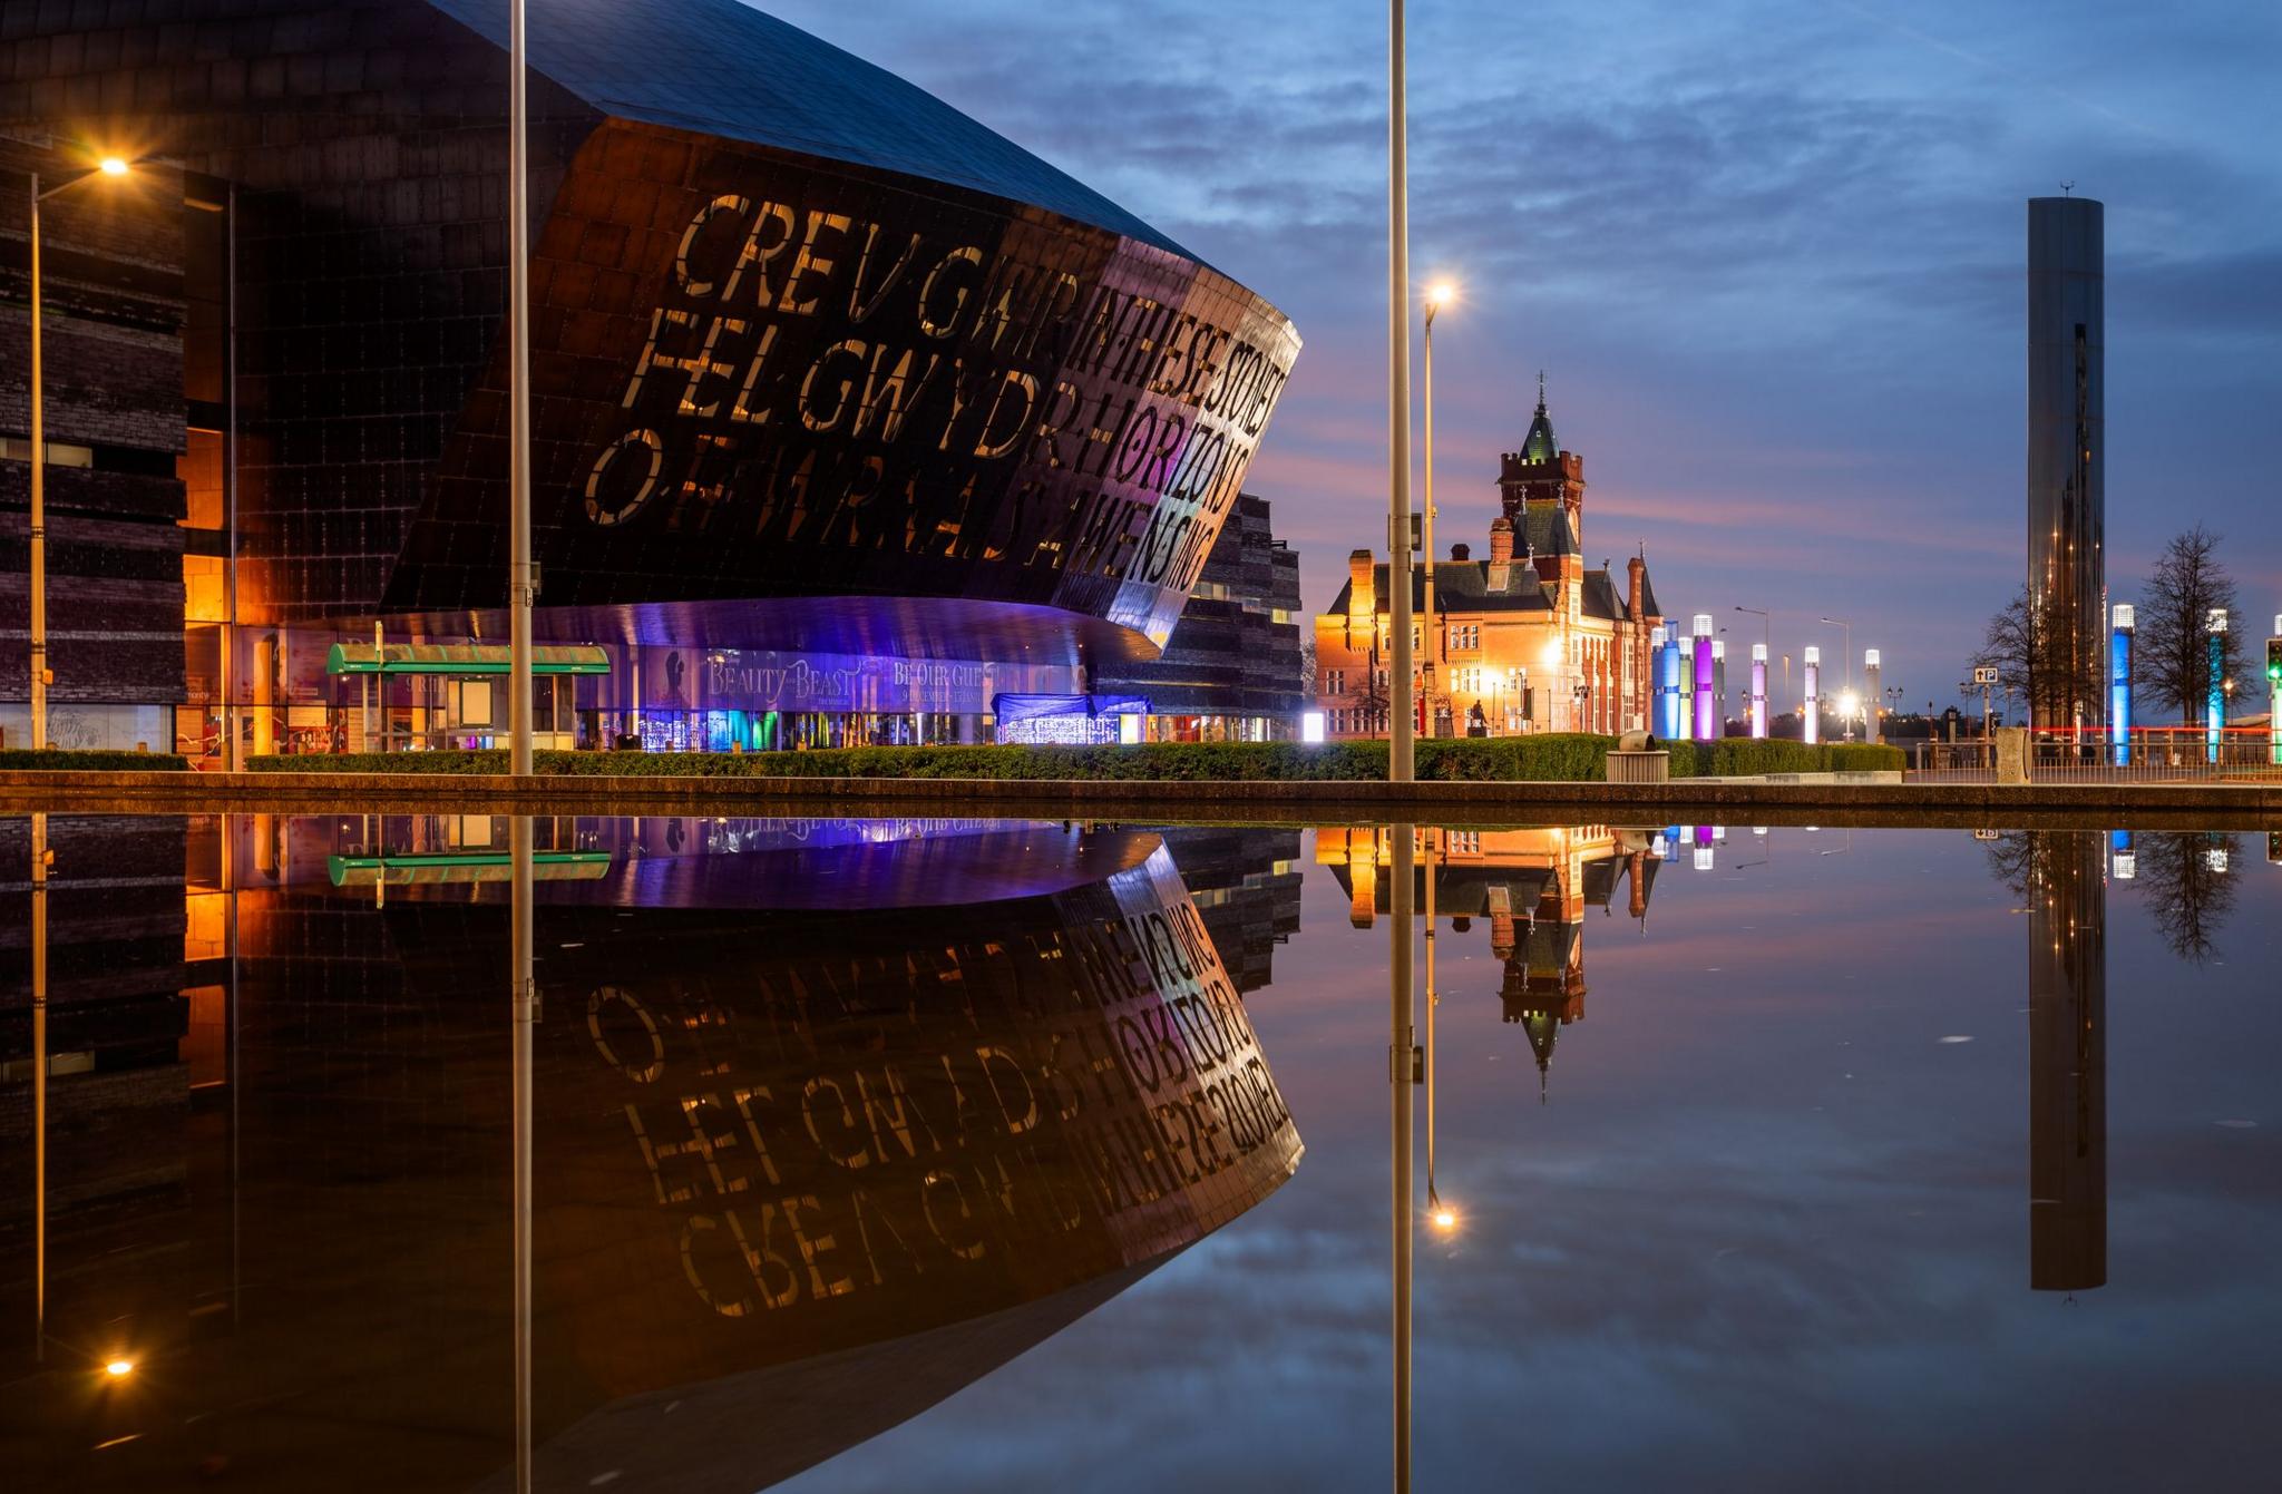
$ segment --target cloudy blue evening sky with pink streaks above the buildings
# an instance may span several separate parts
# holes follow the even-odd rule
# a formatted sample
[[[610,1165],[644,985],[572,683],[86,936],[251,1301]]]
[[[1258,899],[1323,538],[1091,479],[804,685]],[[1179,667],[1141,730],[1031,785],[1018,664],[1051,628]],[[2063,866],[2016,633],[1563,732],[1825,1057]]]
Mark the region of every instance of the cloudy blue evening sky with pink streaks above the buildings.
[[[1321,609],[1385,527],[1385,5],[767,0],[1276,301],[1305,351],[1253,468]],[[1775,652],[1953,698],[2024,568],[2024,198],[2109,205],[2109,577],[2227,536],[2282,611],[2282,7],[1415,0],[1413,269],[1438,538],[1481,545],[1536,372],[1586,554]]]

